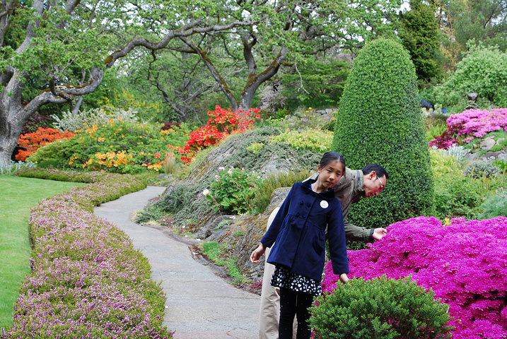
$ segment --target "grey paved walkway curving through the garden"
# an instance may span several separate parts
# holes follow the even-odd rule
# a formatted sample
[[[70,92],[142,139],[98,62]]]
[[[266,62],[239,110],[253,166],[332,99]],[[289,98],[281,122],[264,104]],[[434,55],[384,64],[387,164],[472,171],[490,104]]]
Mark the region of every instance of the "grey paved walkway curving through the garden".
[[[147,189],[104,203],[94,214],[117,225],[151,263],[151,276],[167,296],[164,325],[175,339],[257,339],[260,297],[229,285],[209,266],[192,258],[187,244],[162,230],[137,225],[141,210],[164,187]]]

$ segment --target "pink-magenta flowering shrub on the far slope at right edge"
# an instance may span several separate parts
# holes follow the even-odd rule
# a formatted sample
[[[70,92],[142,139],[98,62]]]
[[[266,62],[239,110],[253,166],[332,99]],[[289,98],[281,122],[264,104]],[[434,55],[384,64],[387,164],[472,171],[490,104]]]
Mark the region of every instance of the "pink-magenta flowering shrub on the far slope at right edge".
[[[447,131],[429,142],[430,146],[449,148],[459,140],[470,143],[492,131],[507,131],[507,108],[467,109],[447,119]],[[451,133],[450,133],[451,132]]]

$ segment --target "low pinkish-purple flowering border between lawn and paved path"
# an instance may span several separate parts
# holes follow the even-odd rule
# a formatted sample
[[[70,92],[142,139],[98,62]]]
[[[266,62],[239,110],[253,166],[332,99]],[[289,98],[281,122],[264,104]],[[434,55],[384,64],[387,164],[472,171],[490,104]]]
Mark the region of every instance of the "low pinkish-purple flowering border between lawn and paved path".
[[[75,173],[75,172],[74,172]],[[24,177],[72,172],[28,169]],[[165,295],[127,234],[93,207],[146,183],[132,175],[76,173],[76,186],[31,210],[33,273],[21,285],[13,327],[1,338],[173,338],[163,323]]]

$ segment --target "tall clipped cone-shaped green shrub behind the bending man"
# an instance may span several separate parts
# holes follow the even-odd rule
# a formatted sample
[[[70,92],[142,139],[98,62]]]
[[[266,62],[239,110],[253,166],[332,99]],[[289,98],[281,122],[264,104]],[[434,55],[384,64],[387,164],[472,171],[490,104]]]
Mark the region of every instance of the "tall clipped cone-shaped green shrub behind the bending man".
[[[386,227],[433,211],[433,175],[419,107],[416,73],[407,51],[378,39],[361,49],[347,78],[332,150],[346,165],[383,165],[389,173],[377,198],[351,206],[349,222]]]

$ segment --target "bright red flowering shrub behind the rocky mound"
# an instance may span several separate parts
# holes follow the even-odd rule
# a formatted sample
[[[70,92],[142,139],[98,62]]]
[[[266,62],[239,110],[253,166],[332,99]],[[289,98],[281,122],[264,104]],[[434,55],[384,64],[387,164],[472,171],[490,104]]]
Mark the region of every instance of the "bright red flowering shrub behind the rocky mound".
[[[190,133],[185,147],[177,148],[182,154],[182,162],[189,163],[198,150],[218,143],[231,133],[247,131],[254,124],[255,119],[260,119],[260,115],[257,114],[259,112],[260,109],[255,108],[250,108],[248,111],[238,109],[231,112],[216,105],[214,112],[208,112],[210,117],[206,125]],[[250,117],[252,113],[257,114],[255,119]]]

